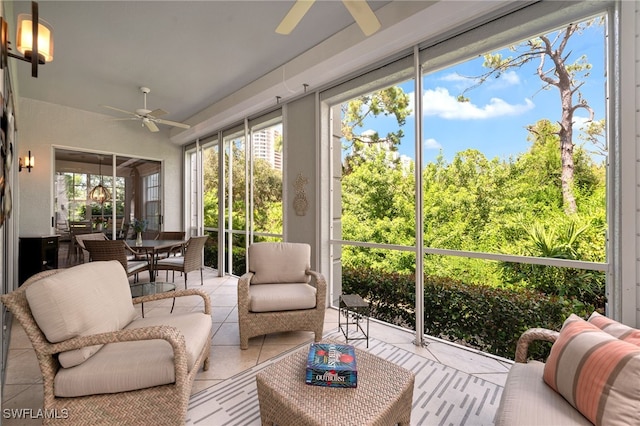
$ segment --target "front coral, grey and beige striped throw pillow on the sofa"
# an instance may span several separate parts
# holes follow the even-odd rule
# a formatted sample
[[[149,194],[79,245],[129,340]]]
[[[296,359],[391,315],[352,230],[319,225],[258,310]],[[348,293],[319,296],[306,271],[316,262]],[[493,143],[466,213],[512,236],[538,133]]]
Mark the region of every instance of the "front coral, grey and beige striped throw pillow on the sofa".
[[[543,378],[596,425],[640,425],[640,347],[577,315],[562,326]]]

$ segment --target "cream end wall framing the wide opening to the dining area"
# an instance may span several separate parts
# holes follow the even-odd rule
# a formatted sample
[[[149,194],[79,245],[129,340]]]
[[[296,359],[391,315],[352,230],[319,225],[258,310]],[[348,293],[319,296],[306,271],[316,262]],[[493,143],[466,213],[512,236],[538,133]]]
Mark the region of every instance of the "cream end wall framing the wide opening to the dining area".
[[[163,132],[151,133],[132,121],[20,98],[17,108],[16,155],[35,156],[31,173],[19,173],[19,236],[52,233],[52,145],[163,160],[164,228],[182,229],[182,148]]]

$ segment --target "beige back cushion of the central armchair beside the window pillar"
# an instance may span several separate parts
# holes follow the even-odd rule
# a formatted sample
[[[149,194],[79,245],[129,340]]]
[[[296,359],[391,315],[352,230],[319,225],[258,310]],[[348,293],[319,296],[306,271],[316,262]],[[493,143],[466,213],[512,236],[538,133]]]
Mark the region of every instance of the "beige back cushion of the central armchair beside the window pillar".
[[[249,246],[251,284],[308,283],[311,246],[303,243],[254,243]]]

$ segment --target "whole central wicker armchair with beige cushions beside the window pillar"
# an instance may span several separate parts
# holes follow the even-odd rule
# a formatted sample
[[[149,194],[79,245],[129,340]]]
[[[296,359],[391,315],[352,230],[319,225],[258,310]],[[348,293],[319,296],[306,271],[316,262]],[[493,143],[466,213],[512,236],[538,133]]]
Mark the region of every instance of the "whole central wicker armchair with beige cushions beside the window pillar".
[[[306,330],[322,338],[327,283],[310,270],[311,247],[300,243],[254,243],[249,272],[238,281],[240,348],[268,333]]]

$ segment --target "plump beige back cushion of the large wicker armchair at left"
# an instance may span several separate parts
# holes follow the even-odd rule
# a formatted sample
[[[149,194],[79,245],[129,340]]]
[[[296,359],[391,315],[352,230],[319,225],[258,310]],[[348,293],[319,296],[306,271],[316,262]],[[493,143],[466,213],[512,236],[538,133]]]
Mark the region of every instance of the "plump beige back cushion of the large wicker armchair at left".
[[[39,280],[26,290],[38,327],[52,343],[117,331],[135,317],[129,280],[118,261],[92,262]],[[102,346],[62,352],[60,364],[79,365]]]

